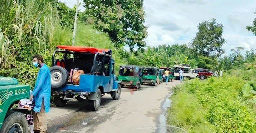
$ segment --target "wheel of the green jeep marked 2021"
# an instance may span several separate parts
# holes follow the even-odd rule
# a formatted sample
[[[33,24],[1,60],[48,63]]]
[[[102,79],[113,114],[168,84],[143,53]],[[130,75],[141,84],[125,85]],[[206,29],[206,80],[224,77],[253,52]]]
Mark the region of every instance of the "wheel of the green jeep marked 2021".
[[[0,133],[27,133],[26,117],[20,112],[13,112],[3,122]]]

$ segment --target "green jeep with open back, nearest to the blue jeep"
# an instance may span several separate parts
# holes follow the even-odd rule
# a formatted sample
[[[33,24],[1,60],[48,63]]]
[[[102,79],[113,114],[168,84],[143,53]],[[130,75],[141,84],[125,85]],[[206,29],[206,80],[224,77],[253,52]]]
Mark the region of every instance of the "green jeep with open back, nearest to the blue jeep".
[[[125,85],[136,87],[142,83],[142,67],[136,65],[120,65],[118,80],[121,81],[121,87]]]

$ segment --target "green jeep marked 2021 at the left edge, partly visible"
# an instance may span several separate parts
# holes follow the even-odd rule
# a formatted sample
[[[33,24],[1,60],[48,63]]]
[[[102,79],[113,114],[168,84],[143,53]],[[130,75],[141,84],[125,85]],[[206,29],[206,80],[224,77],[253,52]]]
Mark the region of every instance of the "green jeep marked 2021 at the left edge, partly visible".
[[[31,115],[31,109],[12,106],[20,99],[29,98],[29,92],[29,85],[19,85],[15,78],[0,76],[0,133],[28,132],[24,114]]]

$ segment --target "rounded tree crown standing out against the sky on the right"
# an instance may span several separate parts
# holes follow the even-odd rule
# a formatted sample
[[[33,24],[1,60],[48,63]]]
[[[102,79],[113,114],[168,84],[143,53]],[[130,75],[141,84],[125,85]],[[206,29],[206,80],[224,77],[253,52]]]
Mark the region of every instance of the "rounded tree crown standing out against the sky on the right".
[[[223,25],[218,24],[216,19],[199,23],[199,31],[193,38],[193,42],[190,43],[190,47],[193,48],[196,55],[219,57],[224,54],[225,51],[222,46],[226,39],[222,37],[223,28]]]

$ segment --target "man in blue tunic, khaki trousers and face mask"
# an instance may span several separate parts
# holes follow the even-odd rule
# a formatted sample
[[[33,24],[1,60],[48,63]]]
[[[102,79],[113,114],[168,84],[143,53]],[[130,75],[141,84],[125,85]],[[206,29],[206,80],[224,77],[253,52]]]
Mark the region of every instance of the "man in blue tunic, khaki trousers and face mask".
[[[42,55],[33,56],[34,67],[39,67],[37,80],[30,101],[34,99],[34,133],[47,133],[45,113],[50,109],[51,77],[50,69],[44,63]]]

